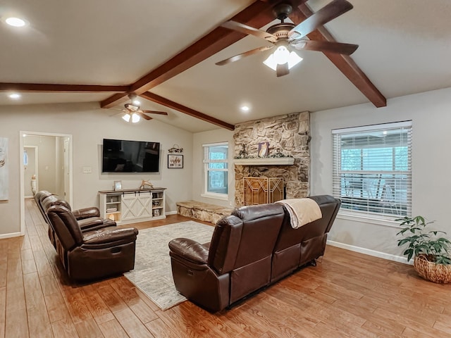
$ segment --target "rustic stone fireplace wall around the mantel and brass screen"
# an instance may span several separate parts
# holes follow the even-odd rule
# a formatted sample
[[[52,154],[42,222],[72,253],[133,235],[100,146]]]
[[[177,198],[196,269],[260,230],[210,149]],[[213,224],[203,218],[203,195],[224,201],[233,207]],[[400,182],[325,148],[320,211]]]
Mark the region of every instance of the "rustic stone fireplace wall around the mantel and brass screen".
[[[292,113],[235,125],[235,155],[245,144],[247,156],[258,157],[260,142],[269,142],[269,154],[295,158],[294,165],[235,165],[235,206],[244,205],[243,177],[283,177],[286,199],[309,195],[310,113]]]

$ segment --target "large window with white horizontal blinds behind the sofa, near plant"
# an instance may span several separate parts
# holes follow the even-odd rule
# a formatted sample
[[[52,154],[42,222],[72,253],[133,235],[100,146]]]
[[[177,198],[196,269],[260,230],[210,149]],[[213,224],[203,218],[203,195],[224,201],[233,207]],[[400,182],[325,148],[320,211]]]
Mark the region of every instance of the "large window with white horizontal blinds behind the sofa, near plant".
[[[333,196],[340,213],[411,215],[412,121],[333,130]]]

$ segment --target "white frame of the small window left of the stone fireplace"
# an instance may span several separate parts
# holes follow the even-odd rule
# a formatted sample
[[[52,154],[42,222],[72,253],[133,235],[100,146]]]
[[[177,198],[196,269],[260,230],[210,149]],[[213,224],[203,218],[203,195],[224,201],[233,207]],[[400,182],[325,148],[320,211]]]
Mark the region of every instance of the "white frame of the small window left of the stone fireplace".
[[[214,147],[214,146],[227,146],[227,151],[226,153],[226,158],[223,159],[219,159],[219,160],[213,160],[210,158],[207,158],[207,154],[209,154],[209,149],[210,147]],[[229,162],[228,162],[228,158],[229,158],[229,142],[216,142],[216,143],[209,143],[209,144],[202,144],[202,151],[203,151],[203,175],[204,175],[204,183],[203,183],[203,187],[202,187],[202,197],[206,197],[209,199],[221,199],[224,201],[228,201],[228,182],[229,182]],[[225,167],[226,168],[214,168],[211,169],[209,168],[211,163],[226,163]],[[226,193],[220,193],[220,192],[209,192],[208,191],[208,187],[209,187],[209,173],[211,171],[216,171],[216,172],[226,172],[227,173],[227,184],[226,184],[226,189],[227,192]]]

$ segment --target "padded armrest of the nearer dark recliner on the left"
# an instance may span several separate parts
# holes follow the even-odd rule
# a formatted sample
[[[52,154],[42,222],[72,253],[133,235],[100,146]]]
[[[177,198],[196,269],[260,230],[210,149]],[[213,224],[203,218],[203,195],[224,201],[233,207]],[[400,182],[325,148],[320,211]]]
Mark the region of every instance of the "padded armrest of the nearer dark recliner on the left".
[[[83,232],[83,244],[113,244],[136,240],[138,230],[135,227],[104,227],[99,230]]]

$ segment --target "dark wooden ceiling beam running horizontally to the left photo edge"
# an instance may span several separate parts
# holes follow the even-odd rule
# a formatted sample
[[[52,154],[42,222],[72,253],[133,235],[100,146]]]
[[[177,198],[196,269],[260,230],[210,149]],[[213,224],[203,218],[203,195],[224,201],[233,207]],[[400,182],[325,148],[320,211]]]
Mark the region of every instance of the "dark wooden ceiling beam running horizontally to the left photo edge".
[[[129,86],[0,82],[0,92],[128,92]]]

